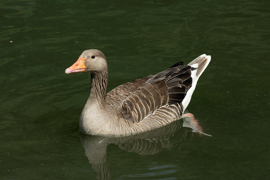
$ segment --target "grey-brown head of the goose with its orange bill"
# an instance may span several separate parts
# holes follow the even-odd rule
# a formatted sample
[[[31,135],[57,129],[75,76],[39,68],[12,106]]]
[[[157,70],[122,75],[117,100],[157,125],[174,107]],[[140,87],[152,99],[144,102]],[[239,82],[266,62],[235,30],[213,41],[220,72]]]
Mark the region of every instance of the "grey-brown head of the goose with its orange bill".
[[[107,70],[105,55],[97,49],[88,49],[82,52],[79,59],[65,70],[65,73],[87,72],[98,73]]]

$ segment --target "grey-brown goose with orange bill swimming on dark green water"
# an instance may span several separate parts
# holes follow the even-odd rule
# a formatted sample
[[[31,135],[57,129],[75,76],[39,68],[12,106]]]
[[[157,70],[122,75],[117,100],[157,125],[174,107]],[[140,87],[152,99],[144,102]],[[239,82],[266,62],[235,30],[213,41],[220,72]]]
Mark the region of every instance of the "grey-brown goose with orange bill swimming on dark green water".
[[[97,49],[82,52],[65,73],[91,73],[88,100],[79,119],[79,129],[99,136],[128,136],[150,131],[183,117],[197,80],[211,60],[200,55],[187,65],[119,85],[106,94],[108,66]]]

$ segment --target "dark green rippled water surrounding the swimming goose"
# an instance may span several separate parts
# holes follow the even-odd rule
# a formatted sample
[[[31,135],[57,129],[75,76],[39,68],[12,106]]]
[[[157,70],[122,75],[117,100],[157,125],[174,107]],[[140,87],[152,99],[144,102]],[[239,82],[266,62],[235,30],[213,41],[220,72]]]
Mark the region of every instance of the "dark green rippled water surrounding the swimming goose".
[[[0,4],[0,179],[102,179],[91,162],[100,147],[82,145],[96,137],[84,141],[78,128],[90,75],[64,73],[85,49],[106,55],[108,90],[212,57],[188,110],[213,137],[191,133],[179,143],[179,130],[175,148],[153,155],[108,143],[104,176],[270,179],[269,1]]]

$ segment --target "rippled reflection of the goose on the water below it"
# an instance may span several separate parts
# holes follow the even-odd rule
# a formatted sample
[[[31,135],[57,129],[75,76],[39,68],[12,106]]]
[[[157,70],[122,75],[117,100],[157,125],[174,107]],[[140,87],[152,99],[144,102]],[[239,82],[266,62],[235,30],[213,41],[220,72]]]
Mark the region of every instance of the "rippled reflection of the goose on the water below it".
[[[96,178],[107,180],[110,179],[110,171],[106,164],[106,150],[109,144],[116,144],[125,151],[141,155],[155,154],[170,149],[180,150],[180,146],[193,137],[192,131],[198,130],[198,125],[191,121],[186,117],[164,127],[128,137],[81,134],[80,138],[85,155],[97,174]]]

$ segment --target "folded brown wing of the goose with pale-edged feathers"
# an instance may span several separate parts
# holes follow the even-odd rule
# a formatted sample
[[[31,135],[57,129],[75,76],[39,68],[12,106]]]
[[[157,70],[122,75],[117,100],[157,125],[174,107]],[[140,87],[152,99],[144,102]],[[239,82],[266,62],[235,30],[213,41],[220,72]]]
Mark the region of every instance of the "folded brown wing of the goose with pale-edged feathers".
[[[119,107],[121,116],[131,123],[141,122],[155,110],[162,111],[161,107],[167,104],[181,103],[192,85],[191,71],[194,69],[180,65],[127,82],[106,95],[106,105]],[[166,112],[163,115],[164,118],[168,116]]]

